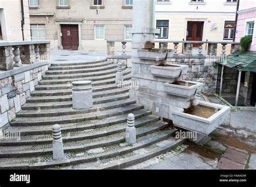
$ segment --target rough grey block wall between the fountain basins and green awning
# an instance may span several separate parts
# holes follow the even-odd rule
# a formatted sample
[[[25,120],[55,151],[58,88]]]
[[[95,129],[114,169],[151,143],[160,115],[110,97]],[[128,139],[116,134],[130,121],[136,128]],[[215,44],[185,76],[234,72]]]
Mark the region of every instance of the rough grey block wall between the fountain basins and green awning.
[[[183,58],[179,56],[179,58],[168,59],[168,61],[173,64],[188,65],[187,74],[182,75],[181,79],[203,82],[203,93],[216,93],[218,64],[214,63],[214,59],[209,59],[207,56],[185,56]]]

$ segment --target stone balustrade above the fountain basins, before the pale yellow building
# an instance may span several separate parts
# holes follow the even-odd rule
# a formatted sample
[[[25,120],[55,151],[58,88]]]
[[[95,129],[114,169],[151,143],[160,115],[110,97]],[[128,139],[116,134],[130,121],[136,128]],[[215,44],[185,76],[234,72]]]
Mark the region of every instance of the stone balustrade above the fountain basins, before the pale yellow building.
[[[155,43],[159,43],[160,49],[170,49],[169,44],[173,45],[173,55],[199,55],[202,56],[203,51],[206,50],[205,55],[217,56],[217,55],[225,55],[230,54],[240,49],[239,43],[228,42],[228,41],[155,41]],[[193,47],[193,44],[197,44],[198,47]],[[218,54],[218,45],[221,45],[221,53]],[[228,53],[226,53],[226,46],[230,45],[231,48]],[[178,47],[182,46],[182,52],[178,53]],[[204,46],[204,47],[203,47]],[[197,49],[198,52],[193,53],[193,49]]]

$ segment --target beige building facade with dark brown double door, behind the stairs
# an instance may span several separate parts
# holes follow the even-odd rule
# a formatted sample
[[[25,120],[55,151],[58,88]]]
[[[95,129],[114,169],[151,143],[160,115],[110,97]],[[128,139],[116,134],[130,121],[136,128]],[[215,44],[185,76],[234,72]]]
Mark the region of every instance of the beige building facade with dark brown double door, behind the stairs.
[[[51,49],[105,51],[108,39],[131,39],[132,0],[30,0],[32,40]]]

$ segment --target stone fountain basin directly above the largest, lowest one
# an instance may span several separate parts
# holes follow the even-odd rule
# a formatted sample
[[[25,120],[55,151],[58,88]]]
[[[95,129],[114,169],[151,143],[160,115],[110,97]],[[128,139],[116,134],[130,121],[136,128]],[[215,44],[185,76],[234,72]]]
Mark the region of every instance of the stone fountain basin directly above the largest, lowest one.
[[[168,94],[184,96],[186,98],[190,98],[196,93],[201,92],[202,87],[203,83],[201,82],[186,80],[180,80],[177,82],[164,84],[165,92],[167,92]]]

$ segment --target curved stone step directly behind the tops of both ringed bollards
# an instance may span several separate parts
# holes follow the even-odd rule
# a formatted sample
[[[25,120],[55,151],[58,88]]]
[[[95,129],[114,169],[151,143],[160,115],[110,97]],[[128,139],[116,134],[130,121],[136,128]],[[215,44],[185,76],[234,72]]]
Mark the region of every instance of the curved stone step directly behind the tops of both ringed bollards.
[[[134,110],[132,113],[134,114],[135,119],[139,119],[140,117],[151,115],[151,112],[145,109]],[[99,120],[89,120],[89,121],[83,121],[79,123],[60,124],[60,127],[62,128],[63,133],[68,133],[71,131],[78,131],[78,130],[93,129],[93,128],[99,128],[99,127],[106,127],[106,126],[111,126],[112,124],[127,122],[127,115],[128,113],[125,113],[122,115],[111,116],[111,117],[107,117]],[[158,117],[158,119],[160,119],[160,117]],[[6,131],[11,133],[19,132],[21,133],[22,136],[52,134],[52,125],[22,126],[22,127],[11,126]]]

